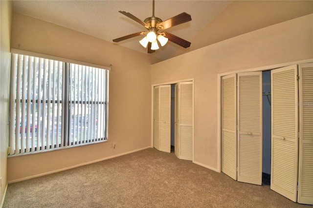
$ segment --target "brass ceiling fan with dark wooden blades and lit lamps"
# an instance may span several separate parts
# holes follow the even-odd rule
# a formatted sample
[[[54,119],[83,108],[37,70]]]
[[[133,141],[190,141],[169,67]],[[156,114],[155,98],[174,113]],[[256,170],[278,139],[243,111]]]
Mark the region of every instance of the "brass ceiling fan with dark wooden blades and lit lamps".
[[[174,42],[184,48],[189,47],[191,44],[191,42],[183,40],[169,32],[163,31],[170,27],[182,24],[187,21],[191,21],[191,16],[185,12],[175,17],[172,17],[166,21],[162,21],[160,18],[155,17],[155,0],[152,0],[152,16],[146,18],[144,21],[141,21],[140,19],[138,19],[137,17],[135,17],[129,12],[124,12],[124,11],[118,11],[118,12],[131,18],[132,20],[138,22],[139,24],[143,25],[147,29],[147,31],[136,32],[127,36],[123,36],[123,37],[114,39],[113,42],[120,42],[120,41],[124,41],[130,38],[137,37],[139,35],[147,34],[147,36],[145,36],[139,42],[145,48],[148,46],[148,53],[153,53],[157,49],[159,49],[157,41],[161,44],[161,46],[164,46],[167,43],[167,41]]]

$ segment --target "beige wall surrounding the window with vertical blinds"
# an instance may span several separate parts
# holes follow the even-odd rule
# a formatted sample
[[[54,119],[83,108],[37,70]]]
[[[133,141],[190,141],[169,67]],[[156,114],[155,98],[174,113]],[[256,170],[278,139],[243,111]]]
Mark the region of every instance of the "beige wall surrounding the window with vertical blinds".
[[[8,158],[8,181],[88,164],[151,146],[150,67],[159,61],[55,24],[14,13],[11,47],[100,65],[112,64],[109,142]],[[116,149],[110,143],[116,142]]]

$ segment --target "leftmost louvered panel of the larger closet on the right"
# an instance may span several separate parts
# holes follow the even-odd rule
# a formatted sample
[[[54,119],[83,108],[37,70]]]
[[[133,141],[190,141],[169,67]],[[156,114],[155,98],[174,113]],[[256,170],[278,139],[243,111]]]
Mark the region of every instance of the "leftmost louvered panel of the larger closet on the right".
[[[222,77],[222,172],[237,180],[236,74]]]

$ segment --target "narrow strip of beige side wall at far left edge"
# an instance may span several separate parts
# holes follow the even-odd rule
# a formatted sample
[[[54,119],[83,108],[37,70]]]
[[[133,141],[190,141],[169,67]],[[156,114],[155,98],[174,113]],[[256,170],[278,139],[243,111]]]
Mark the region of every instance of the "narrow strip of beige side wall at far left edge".
[[[10,36],[13,6],[12,1],[0,1],[0,204],[3,204],[7,187],[7,146],[9,116],[9,78],[10,78]],[[2,207],[2,206],[1,206]]]

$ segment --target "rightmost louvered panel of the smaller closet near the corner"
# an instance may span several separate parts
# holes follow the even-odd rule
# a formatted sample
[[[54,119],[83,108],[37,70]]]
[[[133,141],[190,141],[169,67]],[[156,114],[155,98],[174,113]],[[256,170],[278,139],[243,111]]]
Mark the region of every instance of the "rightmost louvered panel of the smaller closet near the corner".
[[[179,83],[179,159],[193,160],[193,82]]]

